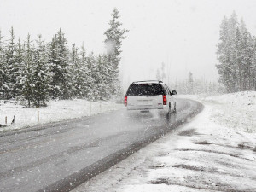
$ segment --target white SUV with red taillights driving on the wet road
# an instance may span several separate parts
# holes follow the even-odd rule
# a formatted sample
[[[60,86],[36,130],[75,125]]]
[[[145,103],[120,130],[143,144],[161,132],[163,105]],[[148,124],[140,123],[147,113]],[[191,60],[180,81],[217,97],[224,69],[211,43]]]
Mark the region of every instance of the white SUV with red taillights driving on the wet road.
[[[176,102],[172,95],[177,91],[169,90],[162,81],[136,81],[133,82],[125,95],[127,110],[149,111],[158,109],[160,112],[176,112]]]

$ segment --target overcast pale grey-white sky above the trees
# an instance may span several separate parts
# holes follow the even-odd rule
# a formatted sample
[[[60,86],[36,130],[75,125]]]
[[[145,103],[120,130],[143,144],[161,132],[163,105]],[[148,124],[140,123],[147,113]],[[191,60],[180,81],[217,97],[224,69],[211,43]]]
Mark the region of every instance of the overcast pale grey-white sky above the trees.
[[[218,32],[224,15],[235,10],[256,35],[256,1],[253,0],[0,0],[0,29],[4,39],[14,26],[15,37],[42,34],[45,40],[61,27],[69,44],[102,53],[103,33],[113,8],[130,30],[123,42],[120,69],[125,82],[155,79],[162,62],[169,79],[216,80]]]

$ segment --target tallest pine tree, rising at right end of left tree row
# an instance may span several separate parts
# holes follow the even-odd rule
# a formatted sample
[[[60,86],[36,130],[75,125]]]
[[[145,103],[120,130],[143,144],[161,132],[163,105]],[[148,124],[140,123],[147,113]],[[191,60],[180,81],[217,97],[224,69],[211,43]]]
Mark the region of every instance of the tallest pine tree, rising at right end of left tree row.
[[[111,94],[119,95],[120,82],[119,82],[119,62],[121,60],[121,45],[124,40],[126,29],[120,29],[122,23],[118,21],[119,11],[114,8],[112,13],[112,20],[109,22],[109,28],[104,34],[106,35],[105,44],[108,54],[108,62],[111,63],[111,68],[108,70],[111,72],[111,87],[109,87]]]

